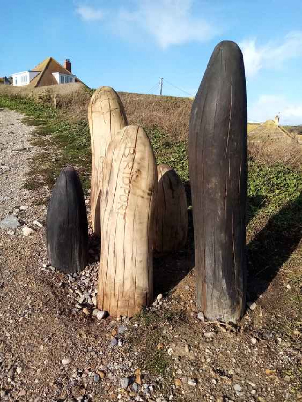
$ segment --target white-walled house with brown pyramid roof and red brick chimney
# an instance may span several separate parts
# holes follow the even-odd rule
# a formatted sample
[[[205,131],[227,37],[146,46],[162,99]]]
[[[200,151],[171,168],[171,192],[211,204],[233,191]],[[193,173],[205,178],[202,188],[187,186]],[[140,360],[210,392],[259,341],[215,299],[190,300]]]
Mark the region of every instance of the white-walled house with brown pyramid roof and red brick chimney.
[[[13,86],[27,85],[31,88],[37,86],[68,84],[82,82],[71,72],[71,62],[66,59],[64,67],[53,57],[47,57],[32,70],[12,74]]]

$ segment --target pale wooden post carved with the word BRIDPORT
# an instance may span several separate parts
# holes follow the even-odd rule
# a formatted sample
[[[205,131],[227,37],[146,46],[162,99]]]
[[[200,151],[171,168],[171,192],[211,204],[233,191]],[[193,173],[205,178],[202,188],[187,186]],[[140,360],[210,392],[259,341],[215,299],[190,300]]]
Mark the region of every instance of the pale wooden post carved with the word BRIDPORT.
[[[101,191],[97,303],[113,317],[131,317],[153,301],[156,189],[150,140],[142,127],[127,126],[109,144]]]

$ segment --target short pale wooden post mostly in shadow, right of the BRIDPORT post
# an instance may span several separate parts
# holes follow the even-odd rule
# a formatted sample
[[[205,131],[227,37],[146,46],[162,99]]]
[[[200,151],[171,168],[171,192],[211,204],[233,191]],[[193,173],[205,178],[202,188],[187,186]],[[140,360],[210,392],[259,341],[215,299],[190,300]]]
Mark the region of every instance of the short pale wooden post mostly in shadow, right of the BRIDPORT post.
[[[155,210],[154,249],[169,252],[182,248],[188,234],[188,205],[185,187],[170,166],[157,166],[158,189]]]

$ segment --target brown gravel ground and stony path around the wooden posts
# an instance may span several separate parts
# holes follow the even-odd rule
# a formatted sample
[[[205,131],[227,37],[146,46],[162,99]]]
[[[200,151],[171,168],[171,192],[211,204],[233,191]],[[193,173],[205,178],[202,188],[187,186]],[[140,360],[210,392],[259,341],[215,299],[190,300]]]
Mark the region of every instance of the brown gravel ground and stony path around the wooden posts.
[[[155,288],[164,294],[148,311],[131,320],[97,316],[99,241],[90,229],[90,264],[79,275],[49,266],[47,205],[35,205],[36,194],[22,189],[30,159],[40,151],[30,145],[33,129],[21,118],[0,111],[0,221],[10,216],[19,225],[0,229],[1,401],[302,398],[301,351],[268,325],[284,292],[279,274],[240,326],[224,326],[197,316],[192,250],[157,256]],[[50,195],[43,185],[40,193]],[[86,205],[89,221],[89,199]]]

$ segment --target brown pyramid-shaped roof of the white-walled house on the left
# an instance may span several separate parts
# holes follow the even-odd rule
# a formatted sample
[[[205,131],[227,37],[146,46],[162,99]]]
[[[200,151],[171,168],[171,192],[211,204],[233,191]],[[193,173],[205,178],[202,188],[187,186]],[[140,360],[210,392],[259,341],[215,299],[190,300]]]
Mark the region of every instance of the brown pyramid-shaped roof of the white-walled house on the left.
[[[45,86],[45,85],[55,85],[58,84],[57,80],[53,76],[52,73],[61,73],[61,74],[71,74],[70,71],[66,70],[60,63],[58,63],[53,57],[47,57],[47,59],[43,60],[40,64],[35,66],[35,68],[31,69],[30,71],[39,72],[35,78],[31,80],[28,84],[30,87],[36,86]],[[75,77],[75,82],[81,82],[77,77]]]

